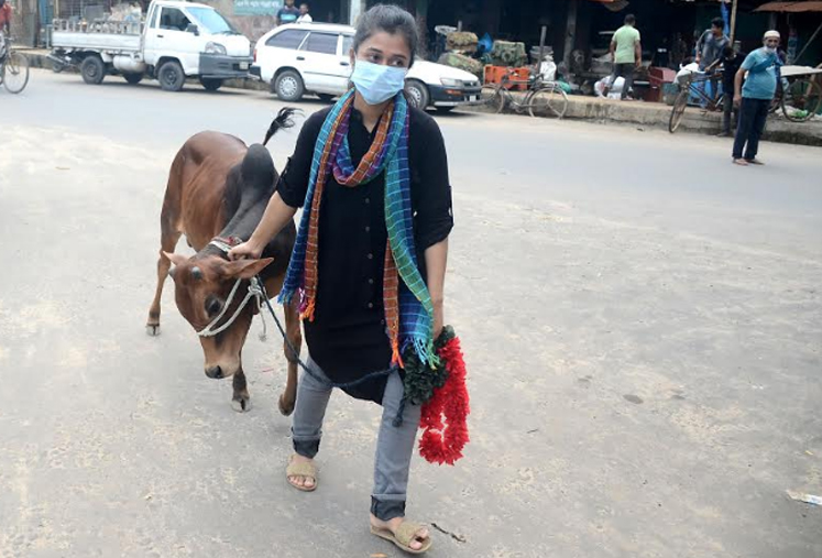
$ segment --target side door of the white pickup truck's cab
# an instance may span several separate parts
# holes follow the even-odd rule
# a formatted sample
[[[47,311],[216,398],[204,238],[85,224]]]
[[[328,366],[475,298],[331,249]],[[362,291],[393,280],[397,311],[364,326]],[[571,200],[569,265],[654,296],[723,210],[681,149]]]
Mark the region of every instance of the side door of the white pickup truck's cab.
[[[145,33],[146,62],[156,63],[163,56],[177,58],[187,75],[197,74],[199,68],[200,41],[193,32],[186,31],[191,20],[179,8],[164,6],[157,10],[155,21]]]

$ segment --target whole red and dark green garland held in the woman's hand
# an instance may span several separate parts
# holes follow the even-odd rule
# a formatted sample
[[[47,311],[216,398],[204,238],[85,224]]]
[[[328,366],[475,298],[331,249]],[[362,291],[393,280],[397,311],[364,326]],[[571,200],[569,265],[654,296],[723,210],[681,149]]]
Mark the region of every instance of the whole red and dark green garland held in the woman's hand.
[[[470,411],[465,362],[451,326],[435,341],[440,363],[434,370],[408,354],[405,361],[406,398],[423,405],[419,455],[429,463],[453,464],[469,441],[465,419]]]

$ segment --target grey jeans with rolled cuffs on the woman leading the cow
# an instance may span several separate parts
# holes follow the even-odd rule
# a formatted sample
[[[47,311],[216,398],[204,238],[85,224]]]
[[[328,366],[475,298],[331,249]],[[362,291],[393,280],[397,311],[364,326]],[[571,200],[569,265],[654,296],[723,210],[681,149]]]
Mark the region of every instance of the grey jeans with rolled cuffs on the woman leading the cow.
[[[297,405],[292,423],[294,451],[314,458],[322,437],[322,419],[331,396],[331,382],[309,358],[307,365],[315,375],[303,372],[297,387]],[[408,469],[414,452],[414,441],[419,425],[418,405],[405,405],[403,424],[393,425],[403,400],[403,380],[393,372],[383,394],[383,417],[376,438],[374,459],[374,488],[371,493],[371,513],[382,521],[405,516]]]

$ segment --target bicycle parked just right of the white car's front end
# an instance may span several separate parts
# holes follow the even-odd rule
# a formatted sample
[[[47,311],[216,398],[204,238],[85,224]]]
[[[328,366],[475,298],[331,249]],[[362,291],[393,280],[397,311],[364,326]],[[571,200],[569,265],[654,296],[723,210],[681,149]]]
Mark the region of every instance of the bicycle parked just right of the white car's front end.
[[[506,106],[511,106],[516,112],[526,109],[534,117],[562,118],[568,111],[568,95],[557,81],[544,81],[541,76],[528,79],[528,92],[522,102],[517,101],[509,88],[513,72],[505,74],[498,84],[482,87],[481,99],[494,108],[498,114]]]

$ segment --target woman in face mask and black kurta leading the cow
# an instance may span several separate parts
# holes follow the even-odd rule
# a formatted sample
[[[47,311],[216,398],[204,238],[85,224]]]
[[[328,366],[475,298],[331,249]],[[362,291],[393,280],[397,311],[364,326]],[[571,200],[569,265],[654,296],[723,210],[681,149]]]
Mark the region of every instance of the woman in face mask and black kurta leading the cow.
[[[297,392],[288,482],[317,488],[314,457],[335,385],[382,404],[371,530],[419,554],[429,533],[404,516],[420,408],[405,404],[399,369],[410,353],[436,358],[453,219],[442,135],[402,92],[416,48],[404,10],[376,6],[360,18],[353,89],[306,121],[257,229],[230,255],[259,258],[304,208],[281,294],[300,297],[311,370]]]

